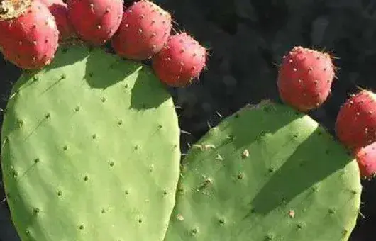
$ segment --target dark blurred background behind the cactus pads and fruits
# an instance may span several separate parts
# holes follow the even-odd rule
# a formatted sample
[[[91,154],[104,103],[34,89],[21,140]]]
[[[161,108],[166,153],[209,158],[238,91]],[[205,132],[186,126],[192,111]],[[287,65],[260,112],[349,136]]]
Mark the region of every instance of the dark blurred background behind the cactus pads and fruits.
[[[128,1],[130,2],[130,1]],[[282,56],[295,45],[335,55],[339,68],[330,99],[310,115],[333,133],[341,104],[357,86],[376,87],[376,0],[155,1],[211,53],[199,84],[171,89],[180,118],[182,152],[245,103],[279,101]],[[19,69],[0,55],[0,108]],[[1,118],[0,118],[1,125]],[[334,134],[334,133],[333,133]],[[376,240],[376,181],[363,181],[362,207],[351,241]],[[0,241],[18,241],[0,182]],[[305,241],[305,240],[304,240]],[[309,241],[309,240],[306,240]],[[335,240],[333,240],[335,241]]]

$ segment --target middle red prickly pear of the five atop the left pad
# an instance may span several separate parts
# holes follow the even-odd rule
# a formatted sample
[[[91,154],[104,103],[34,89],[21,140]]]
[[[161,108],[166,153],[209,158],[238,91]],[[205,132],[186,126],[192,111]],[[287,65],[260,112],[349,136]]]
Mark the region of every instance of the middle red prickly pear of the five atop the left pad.
[[[68,18],[85,42],[104,45],[118,30],[123,16],[122,0],[68,0]]]

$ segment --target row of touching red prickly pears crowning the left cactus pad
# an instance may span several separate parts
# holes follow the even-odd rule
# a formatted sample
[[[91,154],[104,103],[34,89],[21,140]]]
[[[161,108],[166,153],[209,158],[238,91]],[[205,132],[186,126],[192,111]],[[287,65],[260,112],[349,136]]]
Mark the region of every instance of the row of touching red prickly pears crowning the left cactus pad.
[[[59,43],[70,38],[100,47],[108,41],[130,60],[153,59],[159,79],[184,86],[206,67],[206,49],[187,33],[171,35],[170,13],[140,0],[124,9],[123,0],[0,1],[0,49],[22,69],[52,62]]]

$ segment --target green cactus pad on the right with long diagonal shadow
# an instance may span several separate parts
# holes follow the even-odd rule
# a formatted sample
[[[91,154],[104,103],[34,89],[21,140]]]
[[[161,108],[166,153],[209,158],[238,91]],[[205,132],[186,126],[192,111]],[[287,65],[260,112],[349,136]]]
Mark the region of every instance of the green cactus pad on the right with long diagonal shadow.
[[[356,162],[324,128],[262,101],[184,158],[165,241],[348,240],[360,191]]]

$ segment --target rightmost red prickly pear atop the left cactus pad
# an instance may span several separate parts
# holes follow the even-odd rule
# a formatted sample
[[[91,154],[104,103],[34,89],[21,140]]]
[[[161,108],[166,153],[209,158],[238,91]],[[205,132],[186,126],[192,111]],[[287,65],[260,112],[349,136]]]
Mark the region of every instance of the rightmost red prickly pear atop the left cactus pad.
[[[206,67],[206,49],[187,33],[172,35],[153,57],[153,69],[161,82],[186,86]]]

